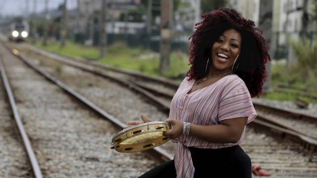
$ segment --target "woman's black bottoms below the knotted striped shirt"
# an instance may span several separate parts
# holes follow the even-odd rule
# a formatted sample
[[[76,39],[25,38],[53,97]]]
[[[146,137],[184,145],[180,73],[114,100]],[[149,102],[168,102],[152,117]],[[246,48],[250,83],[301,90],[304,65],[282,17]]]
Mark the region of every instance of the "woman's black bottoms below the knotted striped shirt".
[[[250,157],[239,146],[218,149],[188,147],[195,167],[194,178],[251,178]],[[139,178],[176,178],[174,160],[167,161]]]

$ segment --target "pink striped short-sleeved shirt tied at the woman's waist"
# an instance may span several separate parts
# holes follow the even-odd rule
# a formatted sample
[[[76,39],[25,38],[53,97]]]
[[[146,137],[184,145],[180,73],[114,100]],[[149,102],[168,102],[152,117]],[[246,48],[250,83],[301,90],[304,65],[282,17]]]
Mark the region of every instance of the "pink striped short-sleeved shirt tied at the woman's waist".
[[[214,84],[187,94],[195,80],[187,81],[187,77],[177,89],[171,105],[169,118],[197,125],[215,125],[221,120],[248,117],[250,123],[257,113],[251,101],[251,95],[245,83],[237,75],[228,75]],[[224,148],[242,142],[244,131],[237,143],[217,143],[203,140],[192,135],[180,135],[176,139],[175,168],[177,178],[193,178],[193,166],[190,151],[187,147]]]

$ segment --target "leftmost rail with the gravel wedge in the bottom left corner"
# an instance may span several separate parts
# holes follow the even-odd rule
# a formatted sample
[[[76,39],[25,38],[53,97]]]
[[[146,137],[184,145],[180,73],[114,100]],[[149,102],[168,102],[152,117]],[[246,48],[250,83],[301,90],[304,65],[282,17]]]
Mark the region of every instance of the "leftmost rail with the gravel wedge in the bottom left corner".
[[[42,178],[34,151],[16,110],[1,56],[0,76],[0,177]]]

